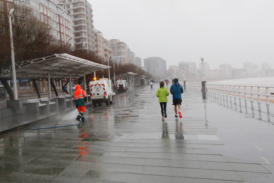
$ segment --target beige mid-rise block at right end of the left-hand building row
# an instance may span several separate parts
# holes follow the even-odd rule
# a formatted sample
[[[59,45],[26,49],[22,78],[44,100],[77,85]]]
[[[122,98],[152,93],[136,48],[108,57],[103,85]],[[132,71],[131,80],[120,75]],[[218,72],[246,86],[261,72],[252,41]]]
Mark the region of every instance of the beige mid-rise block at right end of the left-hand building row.
[[[110,42],[113,56],[120,57],[121,64],[128,64],[128,45],[118,39],[111,39]]]

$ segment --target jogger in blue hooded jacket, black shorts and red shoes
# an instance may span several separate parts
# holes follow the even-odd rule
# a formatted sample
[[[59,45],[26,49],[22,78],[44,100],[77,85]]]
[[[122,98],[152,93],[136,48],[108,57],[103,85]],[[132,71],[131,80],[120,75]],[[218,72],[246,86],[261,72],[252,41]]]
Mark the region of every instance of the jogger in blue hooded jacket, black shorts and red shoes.
[[[183,87],[181,84],[178,83],[178,79],[174,79],[174,84],[171,85],[170,87],[170,93],[172,94],[173,98],[173,104],[174,105],[174,111],[175,111],[175,117],[178,119],[178,114],[179,117],[182,118],[182,113],[181,113],[181,103],[182,103],[182,93],[184,93]],[[178,106],[178,110],[177,110]]]

